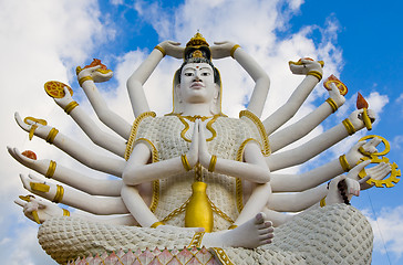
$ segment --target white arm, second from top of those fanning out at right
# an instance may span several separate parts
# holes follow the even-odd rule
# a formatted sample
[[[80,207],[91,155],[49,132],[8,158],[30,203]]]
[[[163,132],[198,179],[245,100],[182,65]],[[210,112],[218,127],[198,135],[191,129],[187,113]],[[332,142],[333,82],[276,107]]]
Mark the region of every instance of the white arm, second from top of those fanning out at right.
[[[317,109],[297,123],[269,136],[272,152],[306,136],[344,104],[345,98],[340,95],[338,87],[331,84],[331,88],[329,92],[330,97]]]

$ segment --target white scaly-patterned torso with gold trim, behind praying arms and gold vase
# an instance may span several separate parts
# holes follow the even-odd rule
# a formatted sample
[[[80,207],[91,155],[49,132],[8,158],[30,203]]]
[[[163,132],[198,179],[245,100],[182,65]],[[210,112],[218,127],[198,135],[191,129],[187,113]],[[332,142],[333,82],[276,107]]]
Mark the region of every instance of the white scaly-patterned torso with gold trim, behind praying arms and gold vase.
[[[218,158],[242,161],[247,142],[255,140],[265,146],[258,126],[250,118],[216,116],[204,125],[208,151]],[[189,150],[192,127],[193,121],[180,116],[146,117],[138,124],[133,146],[141,141],[148,145],[153,152],[153,162],[180,157]],[[151,209],[159,221],[185,226],[183,210],[192,195],[192,183],[200,177],[207,183],[207,195],[213,208],[216,206],[214,231],[231,225],[244,205],[241,181],[209,172],[205,168],[194,168],[154,182]]]

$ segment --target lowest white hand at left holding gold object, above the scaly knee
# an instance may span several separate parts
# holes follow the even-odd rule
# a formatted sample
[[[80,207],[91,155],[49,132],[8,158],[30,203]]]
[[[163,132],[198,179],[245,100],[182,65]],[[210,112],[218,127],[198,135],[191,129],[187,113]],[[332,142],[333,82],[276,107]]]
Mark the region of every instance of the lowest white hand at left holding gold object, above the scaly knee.
[[[56,204],[33,195],[20,197],[14,202],[23,208],[23,213],[27,218],[37,223],[43,223],[51,218],[63,215],[63,210]]]

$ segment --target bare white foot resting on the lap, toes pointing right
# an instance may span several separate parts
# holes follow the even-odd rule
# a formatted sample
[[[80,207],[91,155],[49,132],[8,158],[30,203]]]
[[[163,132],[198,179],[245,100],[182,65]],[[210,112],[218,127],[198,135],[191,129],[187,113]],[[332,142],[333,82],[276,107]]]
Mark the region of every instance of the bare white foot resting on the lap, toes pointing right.
[[[254,219],[239,225],[235,230],[205,234],[203,244],[207,247],[232,246],[255,248],[271,243],[273,227],[266,221],[265,213],[258,213]]]

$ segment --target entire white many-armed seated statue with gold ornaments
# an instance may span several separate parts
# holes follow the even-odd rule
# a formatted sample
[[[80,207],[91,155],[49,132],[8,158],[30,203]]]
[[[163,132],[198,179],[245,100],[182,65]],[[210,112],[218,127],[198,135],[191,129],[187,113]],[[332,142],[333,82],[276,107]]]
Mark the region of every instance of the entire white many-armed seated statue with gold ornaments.
[[[184,63],[174,76],[173,112],[156,117],[148,107],[143,84],[165,55],[184,59]],[[221,78],[213,64],[213,59],[229,56],[255,81],[249,105],[239,118],[227,117],[221,112]],[[134,248],[183,246],[209,248],[223,264],[255,264],[257,261],[276,264],[273,258],[278,257],[282,258],[278,264],[302,263],[307,258],[308,262],[322,261],[326,252],[319,255],[320,251],[314,247],[302,250],[312,239],[294,236],[307,229],[307,220],[312,216],[323,225],[320,227],[339,222],[337,229],[322,235],[326,239],[349,237],[352,230],[360,230],[356,239],[366,244],[358,247],[361,253],[351,251],[353,254],[344,255],[340,250],[335,253],[347,259],[360,258],[368,263],[372,252],[371,227],[359,211],[347,204],[352,195],[359,195],[360,189],[373,187],[369,180],[381,181],[393,170],[394,177],[400,176],[389,161],[364,169],[371,156],[378,153],[381,138],[359,141],[339,159],[302,174],[275,172],[306,162],[374,121],[373,112],[365,106],[300,147],[277,152],[307,135],[344,103],[347,91],[340,87],[345,86],[330,78],[326,83],[330,94],[327,102],[298,123],[278,130],[320,82],[322,67],[323,62],[311,59],[290,62],[291,72],[306,77],[282,107],[260,121],[270,81],[239,45],[216,42],[210,46],[199,33],[186,47],[165,41],[127,81],[136,116],[130,125],[107,108],[96,89],[94,83],[108,81],[113,72],[94,60],[84,68],[78,67],[79,83],[97,117],[120,137],[102,131],[73,100],[68,86],[51,82],[45,87],[91,140],[115,153],[115,158],[90,151],[42,119],[22,120],[19,114],[16,119],[30,137],[41,137],[89,168],[116,178],[93,179],[53,160],[37,160],[9,147],[10,155],[23,166],[64,183],[53,184],[33,174],[21,174],[24,188],[45,200],[28,195],[20,197],[16,203],[23,208],[28,218],[42,223],[40,243],[59,263],[101,255],[105,251],[128,253]],[[70,213],[49,201],[91,215]],[[353,229],[340,235],[344,223]],[[358,223],[361,226],[356,226]],[[273,227],[279,231],[276,237]],[[292,243],[292,237],[300,243]],[[309,236],[303,234],[302,237]],[[356,243],[354,239],[349,241],[345,247]],[[332,247],[335,246],[329,246]],[[337,261],[339,254],[326,258]],[[245,255],[249,259],[242,258]]]

